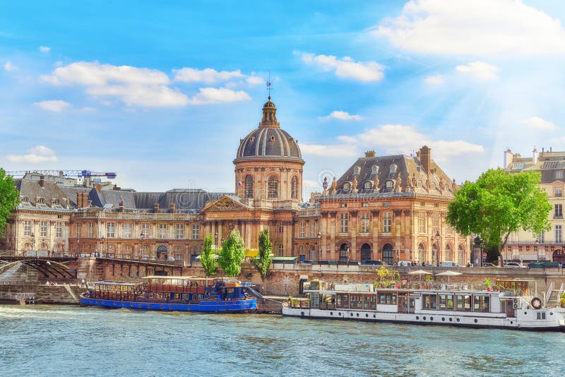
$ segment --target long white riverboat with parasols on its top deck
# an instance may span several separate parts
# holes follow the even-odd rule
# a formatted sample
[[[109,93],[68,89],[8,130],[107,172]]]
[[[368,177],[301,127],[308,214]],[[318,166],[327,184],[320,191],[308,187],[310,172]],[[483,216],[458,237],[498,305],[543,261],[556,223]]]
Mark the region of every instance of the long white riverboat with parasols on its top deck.
[[[545,306],[528,281],[497,281],[499,290],[465,285],[375,288],[309,282],[306,300],[290,299],[283,316],[354,321],[452,325],[470,328],[564,331],[565,309]]]

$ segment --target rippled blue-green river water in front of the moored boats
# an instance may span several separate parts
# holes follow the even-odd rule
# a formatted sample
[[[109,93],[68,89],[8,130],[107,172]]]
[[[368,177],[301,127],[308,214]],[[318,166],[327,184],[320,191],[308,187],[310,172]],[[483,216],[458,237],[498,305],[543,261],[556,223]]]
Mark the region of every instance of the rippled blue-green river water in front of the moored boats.
[[[564,333],[0,305],[1,376],[564,374]]]

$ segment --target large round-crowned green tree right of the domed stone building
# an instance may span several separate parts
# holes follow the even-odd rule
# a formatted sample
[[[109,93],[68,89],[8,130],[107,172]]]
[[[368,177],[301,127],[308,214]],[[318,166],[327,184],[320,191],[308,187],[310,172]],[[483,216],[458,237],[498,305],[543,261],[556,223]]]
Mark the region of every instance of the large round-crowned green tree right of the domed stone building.
[[[540,174],[506,174],[489,169],[476,182],[466,182],[448,205],[446,220],[460,234],[478,234],[485,244],[504,250],[508,237],[523,230],[534,236],[549,230],[552,206],[538,184]]]

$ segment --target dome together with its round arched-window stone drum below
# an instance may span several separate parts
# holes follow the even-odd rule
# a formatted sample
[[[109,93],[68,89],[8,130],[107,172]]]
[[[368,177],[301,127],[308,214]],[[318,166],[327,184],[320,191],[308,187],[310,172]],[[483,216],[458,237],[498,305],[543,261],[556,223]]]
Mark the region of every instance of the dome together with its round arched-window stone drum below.
[[[240,140],[234,164],[235,191],[245,203],[302,201],[304,160],[295,138],[280,128],[270,96],[258,128]]]

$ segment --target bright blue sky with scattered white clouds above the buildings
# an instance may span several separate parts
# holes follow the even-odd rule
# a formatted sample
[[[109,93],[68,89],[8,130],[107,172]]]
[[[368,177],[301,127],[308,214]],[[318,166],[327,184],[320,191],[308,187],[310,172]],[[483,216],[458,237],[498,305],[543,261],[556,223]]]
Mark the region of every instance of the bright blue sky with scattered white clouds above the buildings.
[[[561,1],[0,0],[0,167],[234,191],[273,83],[304,194],[367,150],[456,181],[565,150]]]

